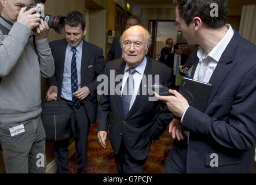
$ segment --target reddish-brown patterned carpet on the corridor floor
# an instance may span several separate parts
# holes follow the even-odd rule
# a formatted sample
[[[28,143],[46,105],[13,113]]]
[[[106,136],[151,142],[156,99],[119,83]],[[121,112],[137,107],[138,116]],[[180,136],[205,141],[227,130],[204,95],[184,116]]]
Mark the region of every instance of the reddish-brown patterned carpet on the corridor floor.
[[[114,152],[112,150],[109,137],[107,137],[107,147],[104,149],[97,139],[97,123],[92,124],[88,137],[88,162],[86,173],[118,173],[116,169]],[[159,138],[152,142],[151,152],[144,165],[142,173],[163,173],[164,160],[168,151],[173,146],[171,135],[165,131]],[[76,154],[69,162],[70,173],[76,173]]]

